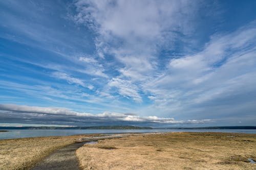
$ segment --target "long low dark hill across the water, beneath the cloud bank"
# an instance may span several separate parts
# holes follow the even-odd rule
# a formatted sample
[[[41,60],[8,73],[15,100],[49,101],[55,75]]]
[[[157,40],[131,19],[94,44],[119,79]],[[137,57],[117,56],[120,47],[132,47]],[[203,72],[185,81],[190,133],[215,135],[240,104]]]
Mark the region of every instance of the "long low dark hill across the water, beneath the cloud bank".
[[[54,129],[153,129],[151,127],[138,127],[138,126],[95,126],[95,127],[0,127],[0,129],[28,129],[28,130],[54,130]]]

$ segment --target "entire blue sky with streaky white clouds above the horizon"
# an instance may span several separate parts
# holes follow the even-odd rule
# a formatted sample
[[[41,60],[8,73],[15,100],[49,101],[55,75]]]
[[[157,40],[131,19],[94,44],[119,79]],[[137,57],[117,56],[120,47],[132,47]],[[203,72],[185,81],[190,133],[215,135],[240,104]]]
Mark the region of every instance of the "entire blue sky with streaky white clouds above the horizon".
[[[0,1],[0,126],[256,126],[256,1]]]

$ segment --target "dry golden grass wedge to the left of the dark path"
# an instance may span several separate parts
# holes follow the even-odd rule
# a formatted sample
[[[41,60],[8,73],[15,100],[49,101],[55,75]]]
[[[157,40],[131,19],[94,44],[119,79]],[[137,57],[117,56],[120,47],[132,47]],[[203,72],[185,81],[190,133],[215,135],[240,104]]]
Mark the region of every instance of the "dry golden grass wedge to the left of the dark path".
[[[0,140],[0,169],[29,169],[57,148],[85,135]]]

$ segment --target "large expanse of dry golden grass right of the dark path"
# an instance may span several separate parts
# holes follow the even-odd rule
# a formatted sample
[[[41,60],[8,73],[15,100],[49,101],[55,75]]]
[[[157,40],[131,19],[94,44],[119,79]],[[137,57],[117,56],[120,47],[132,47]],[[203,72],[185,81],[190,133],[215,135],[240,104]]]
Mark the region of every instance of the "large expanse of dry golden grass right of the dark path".
[[[100,140],[76,155],[83,169],[256,169],[255,146],[255,134],[180,132]]]

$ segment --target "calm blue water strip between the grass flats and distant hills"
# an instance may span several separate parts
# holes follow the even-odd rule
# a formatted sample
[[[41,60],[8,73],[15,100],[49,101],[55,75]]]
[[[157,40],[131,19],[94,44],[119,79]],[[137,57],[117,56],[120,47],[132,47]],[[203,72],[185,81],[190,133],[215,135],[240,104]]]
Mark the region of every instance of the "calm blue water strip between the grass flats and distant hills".
[[[0,129],[1,130],[1,129]],[[254,133],[256,129],[143,129],[143,130],[9,130],[0,132],[0,139],[14,139],[38,136],[68,136],[91,133],[127,133],[127,132],[230,132]]]

